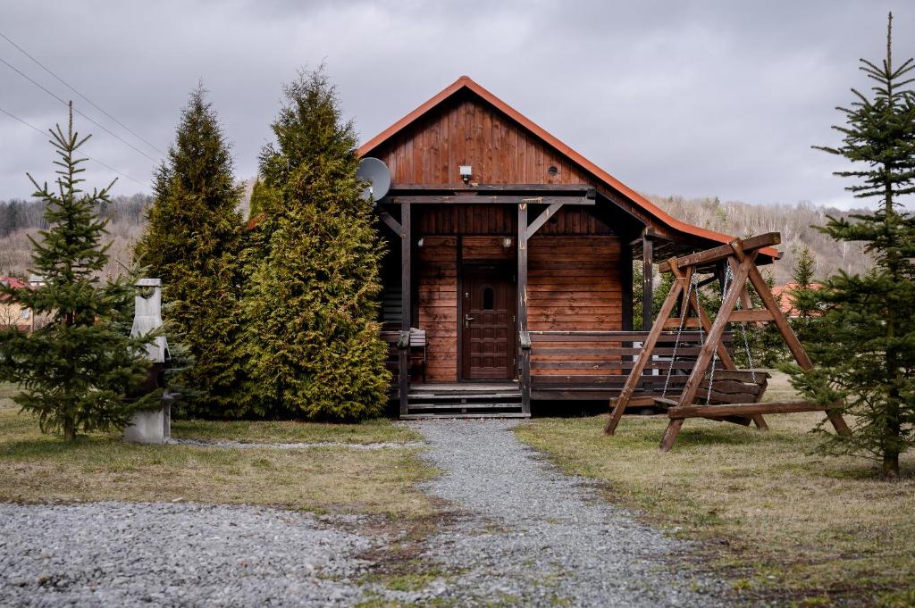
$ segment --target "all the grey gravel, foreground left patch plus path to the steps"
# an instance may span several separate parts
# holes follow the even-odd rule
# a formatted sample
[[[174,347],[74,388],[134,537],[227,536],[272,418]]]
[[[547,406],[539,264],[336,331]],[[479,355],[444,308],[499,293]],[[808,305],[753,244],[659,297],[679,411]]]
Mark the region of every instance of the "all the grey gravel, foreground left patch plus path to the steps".
[[[514,423],[409,423],[444,471],[425,491],[455,510],[421,545],[420,584],[378,576],[372,556],[393,538],[378,534],[377,517],[0,504],[0,606],[720,603],[720,585],[678,566],[682,543],[544,463],[515,439]]]

